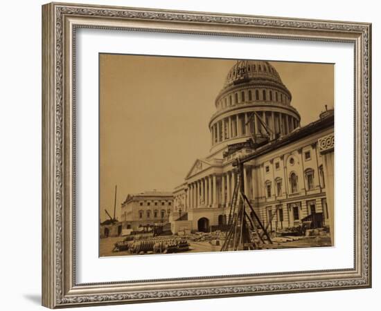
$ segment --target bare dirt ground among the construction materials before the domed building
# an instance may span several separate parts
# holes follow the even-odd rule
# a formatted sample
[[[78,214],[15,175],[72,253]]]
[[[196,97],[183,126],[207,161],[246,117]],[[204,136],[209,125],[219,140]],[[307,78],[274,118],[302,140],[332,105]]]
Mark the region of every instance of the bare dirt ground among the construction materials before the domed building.
[[[112,252],[114,249],[114,244],[118,241],[122,241],[123,237],[109,237],[109,238],[100,238],[99,245],[99,254],[103,256],[138,256],[136,254],[130,254],[128,251],[124,252]],[[221,246],[211,245],[209,241],[189,241],[190,250],[186,253],[200,253],[200,252],[220,252]],[[221,245],[223,240],[220,242]],[[329,236],[318,236],[318,237],[305,237],[301,238],[298,241],[290,241],[284,243],[274,243],[268,245],[269,249],[281,249],[281,248],[297,248],[297,247],[328,247],[330,246]]]

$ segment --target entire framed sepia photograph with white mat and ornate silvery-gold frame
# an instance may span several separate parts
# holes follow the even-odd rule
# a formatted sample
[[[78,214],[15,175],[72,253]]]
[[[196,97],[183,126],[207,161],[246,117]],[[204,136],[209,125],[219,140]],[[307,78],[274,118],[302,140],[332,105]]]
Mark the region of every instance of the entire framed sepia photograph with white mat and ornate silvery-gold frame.
[[[371,24],[42,6],[42,303],[371,287]]]

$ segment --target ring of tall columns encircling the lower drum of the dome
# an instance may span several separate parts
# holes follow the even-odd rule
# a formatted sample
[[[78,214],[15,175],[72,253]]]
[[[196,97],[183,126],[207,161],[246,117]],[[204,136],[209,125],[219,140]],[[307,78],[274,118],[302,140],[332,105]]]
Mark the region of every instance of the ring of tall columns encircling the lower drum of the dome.
[[[213,124],[213,126],[211,126],[211,145],[213,146],[230,138],[249,135],[249,133],[253,133],[254,135],[266,133],[263,128],[263,123],[266,124],[273,133],[280,133],[281,135],[287,135],[299,126],[299,121],[286,113],[271,111],[271,115],[268,119],[266,118],[265,111],[257,111],[257,113],[262,122],[260,122],[257,115],[254,115],[251,122],[247,123],[249,117],[251,117],[251,113],[238,113],[225,117]]]

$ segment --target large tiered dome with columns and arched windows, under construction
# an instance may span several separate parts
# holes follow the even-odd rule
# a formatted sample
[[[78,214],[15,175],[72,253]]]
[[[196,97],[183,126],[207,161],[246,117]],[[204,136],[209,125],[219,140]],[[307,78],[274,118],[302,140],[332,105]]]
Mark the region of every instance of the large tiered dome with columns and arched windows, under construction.
[[[209,122],[211,151],[259,135],[271,139],[300,125],[292,95],[269,62],[238,60],[215,99],[217,111]]]

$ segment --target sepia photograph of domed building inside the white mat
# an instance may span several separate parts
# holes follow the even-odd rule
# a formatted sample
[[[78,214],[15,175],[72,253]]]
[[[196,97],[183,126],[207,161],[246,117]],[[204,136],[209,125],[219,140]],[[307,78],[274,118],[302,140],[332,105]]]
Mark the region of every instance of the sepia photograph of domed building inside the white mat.
[[[335,64],[98,60],[99,256],[335,245]]]

